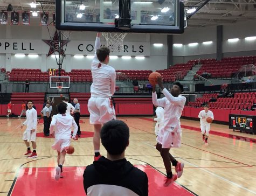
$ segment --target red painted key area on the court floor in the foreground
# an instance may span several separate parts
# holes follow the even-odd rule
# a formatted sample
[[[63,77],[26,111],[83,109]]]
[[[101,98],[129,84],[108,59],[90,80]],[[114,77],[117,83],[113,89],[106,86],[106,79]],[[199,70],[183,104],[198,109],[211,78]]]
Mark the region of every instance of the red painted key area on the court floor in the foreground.
[[[150,165],[135,165],[146,172],[149,195],[194,195],[176,183],[163,187],[165,176]],[[56,181],[54,167],[21,168],[11,195],[86,195],[83,186],[85,167],[64,167],[64,178]]]

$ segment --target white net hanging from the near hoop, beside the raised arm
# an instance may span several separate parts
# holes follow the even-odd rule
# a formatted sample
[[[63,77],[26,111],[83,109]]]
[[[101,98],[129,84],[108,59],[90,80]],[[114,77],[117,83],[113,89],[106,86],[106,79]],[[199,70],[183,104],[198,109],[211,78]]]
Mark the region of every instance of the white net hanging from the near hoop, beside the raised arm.
[[[120,52],[123,50],[123,39],[126,35],[127,33],[102,33],[102,36],[105,37],[107,46],[111,52]]]

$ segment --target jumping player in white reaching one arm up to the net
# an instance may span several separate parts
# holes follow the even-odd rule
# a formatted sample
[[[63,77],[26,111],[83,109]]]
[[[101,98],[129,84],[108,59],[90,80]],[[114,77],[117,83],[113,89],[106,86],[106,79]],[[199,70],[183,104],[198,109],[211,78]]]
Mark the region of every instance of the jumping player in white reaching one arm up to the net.
[[[95,40],[95,55],[91,64],[93,83],[91,97],[88,101],[90,123],[94,124],[94,160],[100,158],[100,130],[102,124],[115,120],[115,108],[111,97],[115,93],[115,69],[108,64],[109,48],[100,47],[100,35]]]

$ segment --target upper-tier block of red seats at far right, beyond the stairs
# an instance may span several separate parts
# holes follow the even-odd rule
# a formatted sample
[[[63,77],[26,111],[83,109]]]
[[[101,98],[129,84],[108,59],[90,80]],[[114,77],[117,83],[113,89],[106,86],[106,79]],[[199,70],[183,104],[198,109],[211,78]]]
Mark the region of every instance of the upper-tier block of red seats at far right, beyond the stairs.
[[[237,73],[241,66],[248,64],[256,64],[256,56],[245,57],[227,57],[221,61],[215,59],[200,60],[202,67],[197,71],[198,75],[203,73],[211,74],[211,78],[231,78]],[[195,79],[197,76],[195,75]]]

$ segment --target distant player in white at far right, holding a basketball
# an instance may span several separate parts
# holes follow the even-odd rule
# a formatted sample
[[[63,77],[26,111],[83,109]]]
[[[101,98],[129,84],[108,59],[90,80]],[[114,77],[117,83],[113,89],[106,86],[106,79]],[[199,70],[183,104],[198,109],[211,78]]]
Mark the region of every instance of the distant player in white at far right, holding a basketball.
[[[210,132],[210,124],[207,123],[206,118],[211,117],[212,120],[214,119],[213,113],[209,110],[208,105],[204,106],[204,110],[201,110],[198,114],[198,118],[200,118],[200,127],[203,135],[203,141],[205,144],[208,144],[208,137]]]

